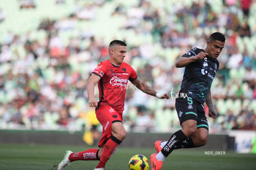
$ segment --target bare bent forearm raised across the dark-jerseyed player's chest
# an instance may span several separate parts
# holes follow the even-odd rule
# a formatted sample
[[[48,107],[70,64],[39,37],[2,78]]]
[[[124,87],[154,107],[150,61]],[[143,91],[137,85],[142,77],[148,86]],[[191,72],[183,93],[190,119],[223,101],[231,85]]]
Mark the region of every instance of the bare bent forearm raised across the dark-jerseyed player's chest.
[[[196,56],[192,56],[192,57],[184,57],[184,56],[182,56],[182,57],[179,57],[179,59],[177,59],[177,61],[175,62],[175,66],[176,67],[186,67],[191,62],[195,62],[198,59],[203,59],[207,55],[208,55],[207,53],[204,53],[203,51],[201,51]]]

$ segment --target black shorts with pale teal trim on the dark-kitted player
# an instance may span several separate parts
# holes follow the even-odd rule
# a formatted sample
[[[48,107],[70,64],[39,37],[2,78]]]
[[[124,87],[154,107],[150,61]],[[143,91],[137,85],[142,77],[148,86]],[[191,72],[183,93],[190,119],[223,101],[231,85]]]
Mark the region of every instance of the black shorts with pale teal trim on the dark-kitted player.
[[[193,100],[190,97],[176,98],[175,107],[180,124],[192,119],[197,121],[197,129],[205,128],[209,130],[207,117],[205,116],[205,111],[203,109],[203,104],[199,103],[196,100]]]

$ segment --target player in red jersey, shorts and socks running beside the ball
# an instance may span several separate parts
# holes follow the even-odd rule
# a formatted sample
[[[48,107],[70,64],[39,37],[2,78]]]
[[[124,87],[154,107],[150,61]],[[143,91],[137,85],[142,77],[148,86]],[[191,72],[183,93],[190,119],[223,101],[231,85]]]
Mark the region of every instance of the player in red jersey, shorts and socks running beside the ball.
[[[58,170],[65,168],[70,162],[77,160],[100,160],[95,170],[104,170],[108,159],[116,151],[117,146],[126,137],[122,124],[122,111],[128,80],[137,88],[157,98],[169,98],[168,93],[156,93],[153,88],[142,82],[132,67],[124,62],[126,43],[113,40],[109,43],[109,59],[100,62],[93,70],[88,81],[88,96],[90,107],[96,108],[96,117],[103,126],[98,148],[92,148],[79,153],[67,150],[64,159],[59,163]],[[95,99],[95,85],[98,84],[99,99]]]

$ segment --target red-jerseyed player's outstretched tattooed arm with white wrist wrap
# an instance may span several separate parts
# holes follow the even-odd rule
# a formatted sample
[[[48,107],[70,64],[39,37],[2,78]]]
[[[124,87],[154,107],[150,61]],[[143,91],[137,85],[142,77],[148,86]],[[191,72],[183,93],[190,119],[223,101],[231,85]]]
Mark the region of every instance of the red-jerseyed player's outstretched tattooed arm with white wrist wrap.
[[[135,79],[134,81],[132,81],[132,83],[139,88],[141,91],[143,91],[144,93],[147,93],[148,95],[151,96],[156,96],[157,98],[167,98],[169,99],[169,95],[168,93],[157,93],[153,88],[151,88],[149,85],[147,85],[146,83],[142,82],[142,80],[139,79],[139,77],[137,77],[137,79]]]

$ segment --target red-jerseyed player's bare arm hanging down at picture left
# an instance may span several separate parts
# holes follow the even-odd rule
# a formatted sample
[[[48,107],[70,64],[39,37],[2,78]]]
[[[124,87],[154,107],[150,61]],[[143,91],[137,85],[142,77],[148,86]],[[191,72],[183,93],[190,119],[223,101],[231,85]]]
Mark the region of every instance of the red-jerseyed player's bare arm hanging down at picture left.
[[[95,99],[94,89],[95,85],[100,81],[100,76],[96,74],[92,74],[87,84],[87,91],[89,96],[89,106],[92,108],[96,108],[98,106],[98,101]]]

